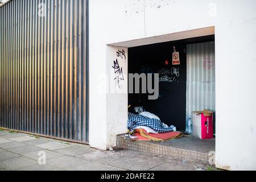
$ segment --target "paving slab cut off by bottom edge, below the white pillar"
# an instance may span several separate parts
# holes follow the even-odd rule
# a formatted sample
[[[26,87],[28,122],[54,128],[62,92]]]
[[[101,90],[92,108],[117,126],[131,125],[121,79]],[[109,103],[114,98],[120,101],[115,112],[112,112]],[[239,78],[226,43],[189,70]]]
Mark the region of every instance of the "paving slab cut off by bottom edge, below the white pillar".
[[[88,162],[79,166],[67,166],[65,169],[68,171],[126,171],[126,169],[109,166],[100,162]]]

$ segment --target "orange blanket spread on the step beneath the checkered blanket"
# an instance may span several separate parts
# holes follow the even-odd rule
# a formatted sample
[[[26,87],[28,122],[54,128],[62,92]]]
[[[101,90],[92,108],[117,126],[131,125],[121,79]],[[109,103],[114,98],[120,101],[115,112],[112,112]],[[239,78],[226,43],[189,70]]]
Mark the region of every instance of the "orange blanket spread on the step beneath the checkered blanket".
[[[165,140],[177,139],[183,137],[183,133],[180,132],[171,132],[171,133],[160,133],[160,134],[152,134],[147,133],[144,129],[136,129],[133,134],[135,138],[134,140],[146,140],[146,141],[154,141],[154,142],[163,142]]]

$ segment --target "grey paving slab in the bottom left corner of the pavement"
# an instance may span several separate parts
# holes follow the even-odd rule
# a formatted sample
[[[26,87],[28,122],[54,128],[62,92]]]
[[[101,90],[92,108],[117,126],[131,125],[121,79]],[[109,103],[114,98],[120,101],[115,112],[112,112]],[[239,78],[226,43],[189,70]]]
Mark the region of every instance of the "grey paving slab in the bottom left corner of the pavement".
[[[10,170],[10,171],[14,171],[14,170],[16,171],[21,168],[33,166],[35,164],[37,164],[35,160],[20,156],[18,158],[1,161],[0,168]]]

